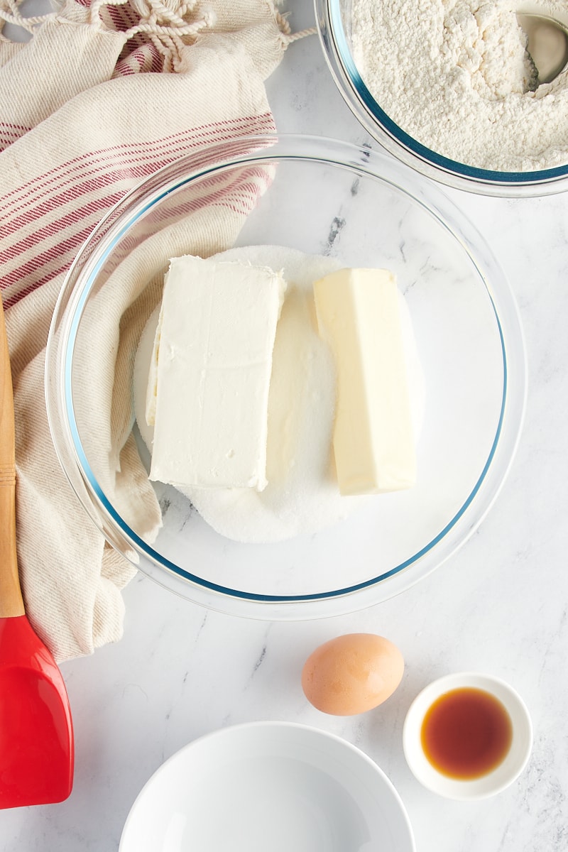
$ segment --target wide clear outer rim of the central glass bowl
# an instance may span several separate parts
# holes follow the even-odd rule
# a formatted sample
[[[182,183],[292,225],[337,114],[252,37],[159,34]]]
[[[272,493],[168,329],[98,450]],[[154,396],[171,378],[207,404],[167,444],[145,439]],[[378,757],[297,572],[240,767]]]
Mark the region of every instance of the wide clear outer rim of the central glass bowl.
[[[235,147],[240,149],[240,155],[235,155]],[[225,158],[220,157],[221,153],[227,152],[227,148],[230,155]],[[303,153],[299,154],[298,150]],[[485,239],[481,237],[473,223],[447,198],[445,193],[442,193],[436,185],[406,170],[403,165],[387,158],[384,153],[370,151],[364,146],[358,147],[348,142],[331,140],[321,136],[287,134],[241,137],[237,142],[231,141],[217,146],[209,146],[207,151],[209,162],[206,164],[202,162],[203,153],[190,154],[175,164],[165,166],[150,178],[146,178],[145,181],[141,181],[135,189],[112,208],[99,226],[95,228],[91,237],[79,250],[72,268],[67,273],[49,330],[45,362],[46,404],[55,451],[67,478],[83,504],[83,508],[87,510],[92,521],[99,527],[110,544],[119,552],[123,552],[123,548],[125,548],[129,553],[128,558],[133,561],[135,567],[140,568],[169,590],[177,591],[181,596],[187,597],[187,591],[191,584],[194,594],[190,596],[190,599],[194,602],[202,603],[221,612],[227,612],[223,603],[229,598],[233,602],[231,612],[234,607],[238,606],[238,614],[263,619],[309,619],[320,617],[323,614],[336,615],[353,612],[379,602],[379,600],[382,601],[385,597],[398,594],[417,582],[418,579],[425,577],[434,568],[439,567],[462,544],[465,544],[475,529],[479,527],[501,491],[519,444],[526,404],[525,340],[513,291],[491,249],[485,243]],[[329,152],[333,153],[333,156]],[[190,168],[188,172],[184,172],[183,178],[177,176],[173,181],[170,180],[169,183],[164,184],[164,180],[170,172],[175,172],[177,175],[182,165],[191,166],[196,161],[196,157],[199,161],[197,169],[192,170]],[[461,508],[430,542],[398,566],[389,569],[378,577],[366,579],[358,584],[307,595],[267,595],[232,589],[187,572],[184,568],[159,555],[151,545],[147,544],[122,521],[116,509],[106,498],[90,469],[73,414],[72,336],[77,331],[80,312],[89,296],[96,270],[102,262],[101,254],[109,250],[109,245],[112,247],[113,243],[128,229],[129,224],[135,222],[141,211],[147,210],[152,204],[172,192],[175,186],[179,187],[187,181],[211,176],[219,170],[230,169],[244,162],[250,163],[251,160],[255,163],[271,163],[275,160],[308,160],[319,164],[340,165],[391,184],[405,193],[459,240],[462,249],[465,250],[485,286],[486,295],[495,314],[502,347],[503,388],[496,435],[484,468]],[[132,204],[134,204],[134,207],[131,208]],[[451,228],[447,224],[448,220],[452,222]],[[113,224],[109,233],[106,233],[105,227],[108,221],[113,222]],[[466,236],[467,233],[469,233],[469,236]],[[479,240],[479,245],[483,247],[485,267],[489,264],[491,274],[483,272],[479,268],[479,262],[473,256],[473,250],[470,248],[472,235],[476,240]],[[97,239],[100,239],[100,245],[96,245]],[[95,250],[91,251],[93,241],[95,241]],[[83,279],[81,279],[80,271],[77,273],[77,268],[85,253],[88,253],[88,260],[85,265],[86,272],[83,273]],[[499,292],[496,292],[493,286],[493,275],[500,281]],[[489,279],[491,279],[491,285]],[[502,298],[507,299],[508,304],[507,309],[501,315],[498,302]],[[508,327],[506,332],[503,331],[503,323]],[[508,360],[508,348],[513,353],[511,360]],[[512,383],[515,388],[513,397],[509,393]],[[54,412],[62,412],[60,427],[66,435],[66,441],[62,441],[58,433],[56,421],[59,414]],[[502,440],[504,431],[507,431],[508,447],[506,450],[503,449]],[[71,452],[69,447],[72,448]],[[495,465],[492,466],[492,463],[496,460],[499,463],[496,467]],[[476,507],[476,511],[473,512],[474,498],[478,496],[479,492],[486,494],[485,504],[482,510]],[[101,521],[100,511],[105,516],[105,521]],[[465,533],[462,533],[460,521],[462,521],[462,525],[467,527]],[[447,551],[443,556],[436,553],[435,558],[430,560],[431,564],[426,564],[426,557],[432,556],[441,541],[445,541],[448,545]],[[141,559],[141,556],[144,558]],[[414,577],[410,573],[410,569],[416,566],[419,566],[421,570],[418,572],[418,576]],[[385,595],[380,595],[377,599],[376,589],[379,587],[385,591]],[[329,605],[327,613],[322,611],[325,609],[323,606],[325,602]],[[261,605],[260,608],[259,604]],[[232,614],[234,613],[232,612]]]

